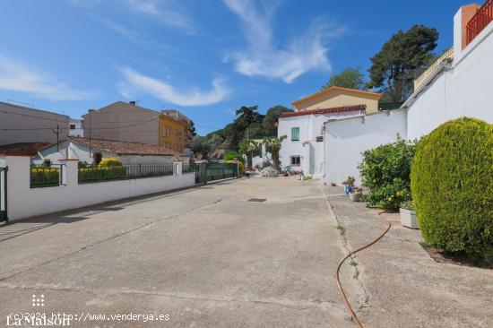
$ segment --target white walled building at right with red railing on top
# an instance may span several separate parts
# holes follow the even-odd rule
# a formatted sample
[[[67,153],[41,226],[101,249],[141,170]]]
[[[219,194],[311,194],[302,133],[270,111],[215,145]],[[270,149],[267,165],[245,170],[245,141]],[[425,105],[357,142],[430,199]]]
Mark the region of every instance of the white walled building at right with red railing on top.
[[[324,130],[324,182],[341,184],[348,176],[360,184],[361,152],[413,140],[458,117],[493,123],[493,17],[491,1],[465,5],[454,16],[454,47],[415,81],[402,108],[329,121]],[[483,28],[478,21],[483,22]]]

